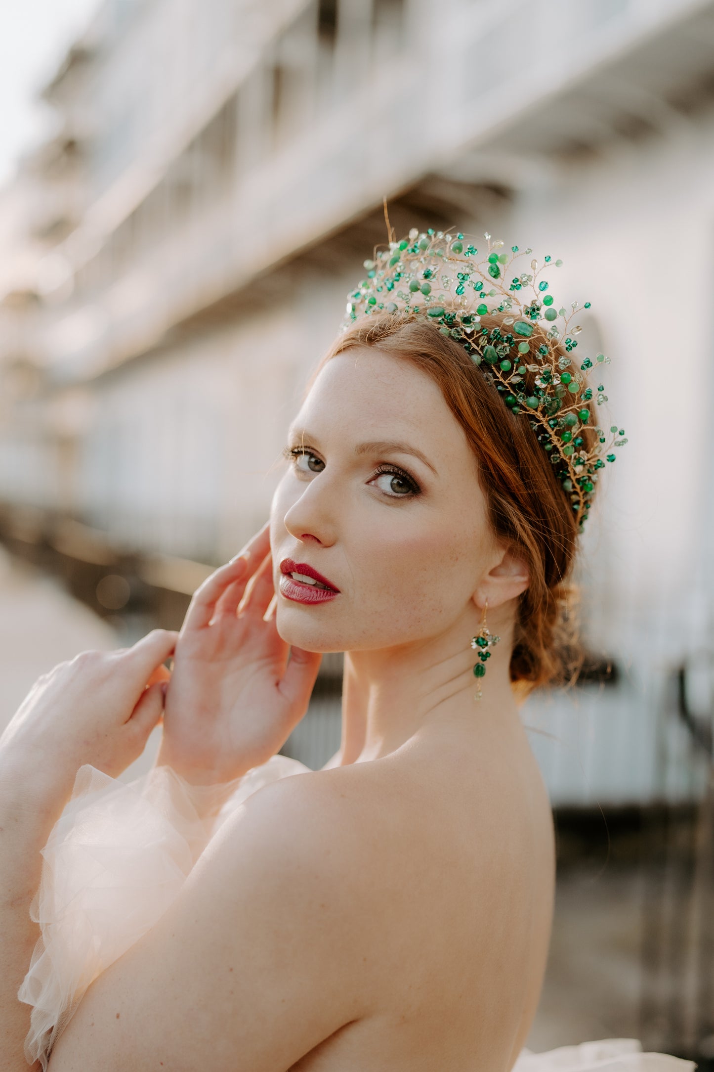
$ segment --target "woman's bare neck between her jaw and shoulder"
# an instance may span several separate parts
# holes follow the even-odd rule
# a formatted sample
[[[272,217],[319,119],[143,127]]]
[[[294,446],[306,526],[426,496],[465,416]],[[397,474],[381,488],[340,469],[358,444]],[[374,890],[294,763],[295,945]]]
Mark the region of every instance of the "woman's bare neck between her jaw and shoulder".
[[[475,738],[492,720],[518,719],[508,676],[513,624],[504,615],[489,619],[501,643],[480,682],[473,675],[476,652],[470,646],[480,627],[475,608],[428,640],[346,652],[340,765],[381,759],[416,736]],[[476,701],[478,684],[483,696]]]

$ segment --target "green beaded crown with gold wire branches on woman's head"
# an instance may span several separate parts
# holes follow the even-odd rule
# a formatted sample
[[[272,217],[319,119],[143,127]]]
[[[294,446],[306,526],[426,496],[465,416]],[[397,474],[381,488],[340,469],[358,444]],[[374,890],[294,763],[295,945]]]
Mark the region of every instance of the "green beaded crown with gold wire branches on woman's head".
[[[609,358],[573,356],[581,330],[573,322],[590,302],[557,308],[544,276],[562,260],[547,256],[519,269],[516,262],[532,250],[502,252],[502,241],[484,238],[481,258],[461,234],[412,228],[409,238],[391,241],[365,260],[367,278],[347,296],[343,330],[386,314],[427,321],[455,339],[511,412],[530,421],[582,531],[604,458],[613,462],[613,448],[627,442],[624,429],[612,425],[608,435],[593,419],[593,398],[599,406],[607,394],[602,383],[588,386],[588,373]],[[493,314],[499,323],[489,327]]]

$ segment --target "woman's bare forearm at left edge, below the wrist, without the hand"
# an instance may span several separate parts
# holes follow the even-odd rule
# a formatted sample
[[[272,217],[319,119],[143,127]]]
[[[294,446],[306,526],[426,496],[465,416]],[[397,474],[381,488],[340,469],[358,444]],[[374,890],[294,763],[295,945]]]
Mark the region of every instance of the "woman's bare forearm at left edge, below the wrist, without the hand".
[[[0,1072],[29,1068],[22,1043],[30,1006],[17,1000],[17,991],[40,937],[30,919],[42,872],[40,853],[66,801],[65,789],[49,779],[43,785],[42,777],[36,768],[0,768]]]

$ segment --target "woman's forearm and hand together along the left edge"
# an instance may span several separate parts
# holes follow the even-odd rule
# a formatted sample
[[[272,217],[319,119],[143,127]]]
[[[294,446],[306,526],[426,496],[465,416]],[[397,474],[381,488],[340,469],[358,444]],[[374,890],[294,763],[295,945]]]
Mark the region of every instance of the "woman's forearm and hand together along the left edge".
[[[40,937],[42,849],[80,766],[116,777],[143,751],[174,646],[176,634],[154,630],[127,651],[83,652],[41,678],[0,735],[0,1072],[28,1067],[30,1007],[17,991]]]

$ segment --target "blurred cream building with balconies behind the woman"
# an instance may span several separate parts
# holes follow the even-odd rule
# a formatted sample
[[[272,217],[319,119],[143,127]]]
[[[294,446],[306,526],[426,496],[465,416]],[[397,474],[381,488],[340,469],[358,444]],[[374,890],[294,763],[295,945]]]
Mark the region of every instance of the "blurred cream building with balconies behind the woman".
[[[590,671],[526,720],[557,802],[700,795],[714,3],[107,0],[44,95],[0,202],[6,538],[105,611],[176,611],[265,518],[382,197],[398,233],[529,244],[592,302],[629,443],[586,538]],[[329,681],[300,732],[315,762],[338,736]]]

